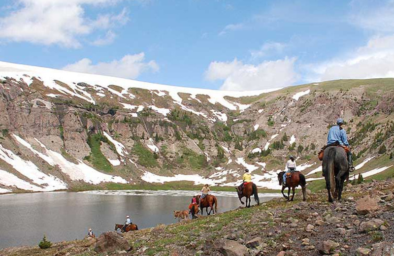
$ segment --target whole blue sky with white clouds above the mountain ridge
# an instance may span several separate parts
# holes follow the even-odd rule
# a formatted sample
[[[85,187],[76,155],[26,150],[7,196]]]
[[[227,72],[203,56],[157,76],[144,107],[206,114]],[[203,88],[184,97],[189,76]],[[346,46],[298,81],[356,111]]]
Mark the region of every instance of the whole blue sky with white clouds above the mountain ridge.
[[[237,91],[394,77],[394,0],[1,0],[0,61]]]

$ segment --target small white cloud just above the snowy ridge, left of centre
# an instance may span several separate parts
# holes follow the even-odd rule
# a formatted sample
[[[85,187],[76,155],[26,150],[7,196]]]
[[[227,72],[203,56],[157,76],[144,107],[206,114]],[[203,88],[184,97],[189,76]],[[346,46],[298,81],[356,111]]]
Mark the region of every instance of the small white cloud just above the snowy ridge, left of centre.
[[[143,52],[134,55],[125,55],[120,60],[111,62],[99,62],[92,64],[90,59],[82,59],[76,63],[68,64],[63,69],[91,74],[109,75],[123,78],[134,79],[142,72],[157,72],[159,65],[155,61],[144,62]]]

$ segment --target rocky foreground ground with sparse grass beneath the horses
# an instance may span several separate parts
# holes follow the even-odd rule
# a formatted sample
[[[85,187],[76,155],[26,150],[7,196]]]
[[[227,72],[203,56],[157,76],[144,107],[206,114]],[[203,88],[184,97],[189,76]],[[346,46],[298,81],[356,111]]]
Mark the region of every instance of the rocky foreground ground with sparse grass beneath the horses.
[[[324,191],[306,202],[277,198],[261,206],[158,225],[127,233],[102,234],[37,247],[9,248],[1,256],[318,256],[394,255],[394,180],[346,185],[341,202]]]

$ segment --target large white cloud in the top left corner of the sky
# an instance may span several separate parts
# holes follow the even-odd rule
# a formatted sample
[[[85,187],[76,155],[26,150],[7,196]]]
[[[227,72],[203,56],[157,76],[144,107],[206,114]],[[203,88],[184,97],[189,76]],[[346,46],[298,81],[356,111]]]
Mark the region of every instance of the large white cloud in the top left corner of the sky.
[[[118,1],[18,0],[16,9],[0,18],[0,38],[77,48],[81,46],[81,36],[127,22],[125,9],[120,14],[102,14],[92,20],[86,17],[84,6],[114,4]]]

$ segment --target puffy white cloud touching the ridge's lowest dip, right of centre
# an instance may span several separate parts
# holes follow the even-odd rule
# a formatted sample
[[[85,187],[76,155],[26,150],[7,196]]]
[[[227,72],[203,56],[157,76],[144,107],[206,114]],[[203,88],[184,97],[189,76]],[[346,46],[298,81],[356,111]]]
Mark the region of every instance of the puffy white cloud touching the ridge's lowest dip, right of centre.
[[[290,86],[298,75],[294,70],[296,58],[264,61],[260,64],[212,62],[205,71],[207,80],[223,80],[221,90],[245,91]]]

